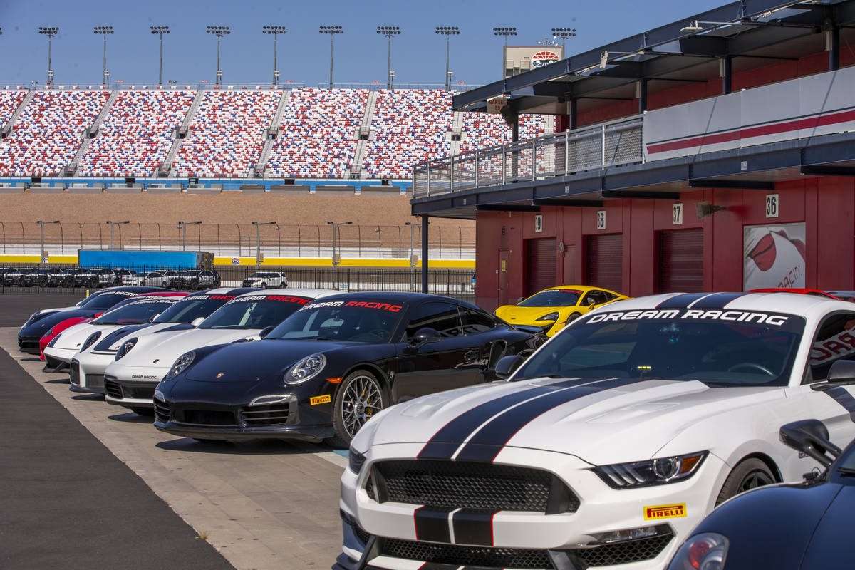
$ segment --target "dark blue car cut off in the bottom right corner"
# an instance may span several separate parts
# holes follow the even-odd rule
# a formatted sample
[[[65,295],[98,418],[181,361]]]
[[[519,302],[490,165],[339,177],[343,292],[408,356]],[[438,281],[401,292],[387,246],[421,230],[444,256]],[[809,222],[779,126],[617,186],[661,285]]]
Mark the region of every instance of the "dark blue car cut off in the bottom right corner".
[[[855,383],[855,361],[837,361],[828,384]],[[846,450],[828,440],[818,420],[781,427],[781,441],[825,469],[799,483],[746,492],[695,527],[668,570],[849,570],[855,508],[855,441]]]

